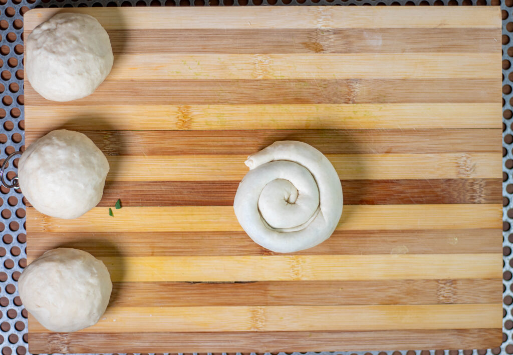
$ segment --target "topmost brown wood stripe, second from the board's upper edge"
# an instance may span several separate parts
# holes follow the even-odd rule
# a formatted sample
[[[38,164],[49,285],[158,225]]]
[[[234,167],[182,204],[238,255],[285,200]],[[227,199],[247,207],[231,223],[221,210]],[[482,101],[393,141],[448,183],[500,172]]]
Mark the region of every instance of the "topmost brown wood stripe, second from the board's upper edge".
[[[501,47],[494,40],[496,29],[478,28],[109,30],[108,33],[116,54],[476,53],[498,52]]]

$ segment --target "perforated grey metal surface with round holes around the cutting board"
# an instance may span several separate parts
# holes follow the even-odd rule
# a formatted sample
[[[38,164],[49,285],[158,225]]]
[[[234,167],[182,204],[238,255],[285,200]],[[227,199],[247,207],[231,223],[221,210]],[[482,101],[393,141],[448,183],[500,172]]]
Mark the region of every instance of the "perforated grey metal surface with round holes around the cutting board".
[[[513,353],[513,0],[0,0],[0,162],[24,149],[23,14],[38,7],[245,6],[245,5],[501,5],[503,68],[503,344],[480,350],[401,350],[308,353],[332,355],[427,355]],[[16,167],[17,160],[14,161]],[[12,178],[13,173],[8,174]],[[14,189],[0,188],[0,349],[2,355],[27,353],[27,311],[17,295],[17,280],[27,264],[25,205]],[[511,232],[511,234],[510,234]],[[479,290],[476,290],[479,292]],[[146,354],[143,354],[146,355]],[[160,354],[159,354],[160,355]],[[196,355],[196,354],[194,354]],[[208,355],[212,355],[208,353]],[[218,355],[218,354],[215,354]],[[223,355],[227,355],[223,353]],[[231,354],[230,354],[231,355]],[[246,355],[246,354],[245,354]],[[253,353],[251,355],[254,355]],[[279,355],[285,355],[280,353]],[[299,355],[299,353],[294,353]]]

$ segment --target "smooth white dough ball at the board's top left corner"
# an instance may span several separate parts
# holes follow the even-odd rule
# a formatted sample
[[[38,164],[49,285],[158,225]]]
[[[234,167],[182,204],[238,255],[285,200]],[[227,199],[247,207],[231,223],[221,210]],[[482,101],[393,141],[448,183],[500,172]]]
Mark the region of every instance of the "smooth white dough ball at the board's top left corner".
[[[30,85],[53,101],[90,95],[112,68],[109,35],[96,18],[58,13],[30,33],[25,72]]]

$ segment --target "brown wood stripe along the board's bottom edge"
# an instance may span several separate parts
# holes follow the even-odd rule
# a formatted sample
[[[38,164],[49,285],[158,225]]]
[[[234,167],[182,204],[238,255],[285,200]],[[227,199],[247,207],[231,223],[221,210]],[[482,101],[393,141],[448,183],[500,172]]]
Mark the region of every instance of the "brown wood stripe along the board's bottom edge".
[[[236,297],[236,296],[234,296]],[[173,333],[33,333],[32,353],[196,352],[196,351],[340,351],[493,348],[502,329],[436,329],[386,331],[201,332]]]

